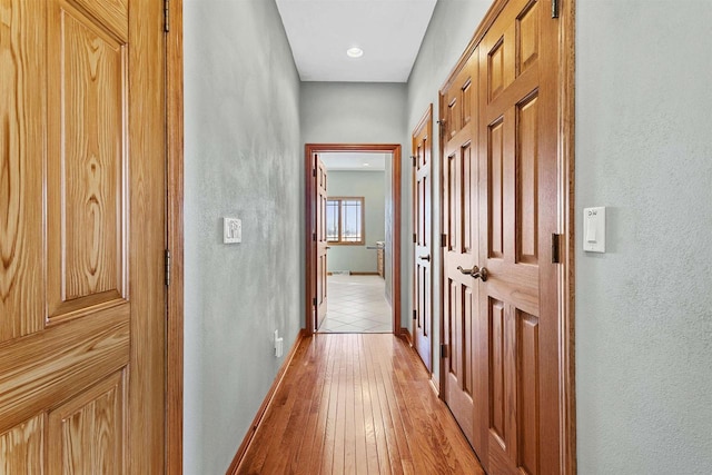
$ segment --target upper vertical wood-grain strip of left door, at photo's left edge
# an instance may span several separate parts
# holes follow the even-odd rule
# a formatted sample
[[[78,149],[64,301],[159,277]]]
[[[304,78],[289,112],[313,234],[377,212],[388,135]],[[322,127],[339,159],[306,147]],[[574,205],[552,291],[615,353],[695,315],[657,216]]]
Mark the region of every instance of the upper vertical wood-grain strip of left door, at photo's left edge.
[[[47,4],[0,0],[0,343],[44,325]]]

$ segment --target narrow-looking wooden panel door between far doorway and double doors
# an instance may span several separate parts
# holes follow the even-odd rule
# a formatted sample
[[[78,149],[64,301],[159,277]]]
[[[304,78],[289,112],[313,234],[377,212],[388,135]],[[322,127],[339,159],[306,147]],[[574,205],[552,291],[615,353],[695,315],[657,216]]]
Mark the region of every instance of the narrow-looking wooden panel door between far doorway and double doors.
[[[433,105],[412,135],[413,140],[413,331],[415,349],[433,370]]]

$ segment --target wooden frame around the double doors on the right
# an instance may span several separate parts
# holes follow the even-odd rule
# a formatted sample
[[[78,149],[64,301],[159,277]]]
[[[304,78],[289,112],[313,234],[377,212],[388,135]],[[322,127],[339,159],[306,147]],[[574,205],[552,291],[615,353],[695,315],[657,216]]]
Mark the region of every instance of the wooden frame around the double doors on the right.
[[[444,110],[443,91],[446,90],[455,76],[465,67],[475,48],[490,30],[497,16],[508,0],[495,0],[475,30],[472,40],[459,57],[457,63],[447,76],[438,93],[439,111]],[[558,279],[558,414],[560,414],[560,457],[561,473],[574,475],[576,473],[576,390],[575,390],[575,10],[576,0],[562,0],[558,4],[558,21],[561,22],[560,44],[560,80],[558,80],[558,156],[557,184],[558,196],[558,232],[561,232],[560,251],[562,271]],[[444,145],[442,131],[439,137],[439,174],[443,182]],[[441,186],[441,229],[443,229],[443,187]],[[443,253],[443,248],[441,248]],[[442,261],[442,256],[441,256]],[[441,266],[439,281],[443,281],[445,269]],[[441,344],[444,343],[444,307],[441,286]],[[441,356],[439,394],[444,396],[445,376],[443,358]]]

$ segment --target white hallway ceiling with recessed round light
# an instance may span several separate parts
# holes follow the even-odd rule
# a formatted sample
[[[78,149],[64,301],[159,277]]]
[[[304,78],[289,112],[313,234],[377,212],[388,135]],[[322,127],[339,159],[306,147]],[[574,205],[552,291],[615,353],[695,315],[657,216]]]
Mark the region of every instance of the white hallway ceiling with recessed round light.
[[[437,0],[277,0],[303,81],[407,82]],[[360,58],[346,50],[359,47]]]

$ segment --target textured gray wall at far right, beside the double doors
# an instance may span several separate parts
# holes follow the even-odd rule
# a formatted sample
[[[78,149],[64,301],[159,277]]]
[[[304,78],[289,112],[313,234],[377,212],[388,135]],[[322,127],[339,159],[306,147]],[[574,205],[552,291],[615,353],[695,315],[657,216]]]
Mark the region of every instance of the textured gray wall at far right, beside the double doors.
[[[580,474],[712,473],[709,1],[578,1]],[[578,239],[580,241],[581,239]]]

